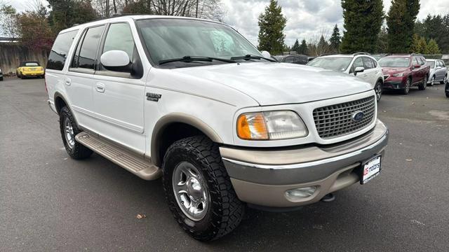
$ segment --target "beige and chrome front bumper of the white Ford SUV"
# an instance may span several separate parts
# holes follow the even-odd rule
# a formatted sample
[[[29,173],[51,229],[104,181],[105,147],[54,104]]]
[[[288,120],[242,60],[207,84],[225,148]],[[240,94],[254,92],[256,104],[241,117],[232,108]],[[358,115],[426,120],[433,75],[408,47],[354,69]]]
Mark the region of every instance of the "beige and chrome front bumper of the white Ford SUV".
[[[220,153],[241,201],[262,207],[299,207],[358,182],[361,163],[384,152],[388,134],[384,123],[377,121],[363,137],[338,145],[281,151],[220,147]],[[287,190],[309,186],[317,188],[310,197],[286,197]]]

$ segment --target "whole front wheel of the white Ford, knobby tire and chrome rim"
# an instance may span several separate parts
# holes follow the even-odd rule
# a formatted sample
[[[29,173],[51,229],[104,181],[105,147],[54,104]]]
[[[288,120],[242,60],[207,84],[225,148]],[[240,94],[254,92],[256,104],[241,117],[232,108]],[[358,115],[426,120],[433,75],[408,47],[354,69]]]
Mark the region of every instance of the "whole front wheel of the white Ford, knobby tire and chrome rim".
[[[176,141],[163,159],[163,189],[177,223],[210,241],[234,230],[244,205],[237,198],[217,144],[207,137]]]

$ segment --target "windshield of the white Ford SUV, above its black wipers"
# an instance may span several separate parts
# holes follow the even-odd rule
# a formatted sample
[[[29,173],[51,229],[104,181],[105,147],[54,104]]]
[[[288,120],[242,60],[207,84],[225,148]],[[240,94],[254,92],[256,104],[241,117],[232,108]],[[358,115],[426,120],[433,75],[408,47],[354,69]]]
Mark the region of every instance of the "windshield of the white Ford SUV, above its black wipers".
[[[222,59],[244,55],[262,57],[246,38],[232,28],[215,22],[158,18],[138,20],[136,24],[149,57],[156,64],[166,59],[185,56]],[[187,62],[175,63],[188,64]],[[210,64],[210,62],[201,62],[201,64]]]

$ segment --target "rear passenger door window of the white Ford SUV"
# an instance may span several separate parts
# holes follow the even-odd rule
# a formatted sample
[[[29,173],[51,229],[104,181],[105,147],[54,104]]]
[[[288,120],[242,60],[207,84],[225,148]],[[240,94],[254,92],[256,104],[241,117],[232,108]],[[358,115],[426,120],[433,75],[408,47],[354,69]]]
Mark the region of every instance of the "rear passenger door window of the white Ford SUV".
[[[77,67],[84,69],[94,69],[95,58],[97,56],[98,43],[105,26],[89,28],[84,35]]]

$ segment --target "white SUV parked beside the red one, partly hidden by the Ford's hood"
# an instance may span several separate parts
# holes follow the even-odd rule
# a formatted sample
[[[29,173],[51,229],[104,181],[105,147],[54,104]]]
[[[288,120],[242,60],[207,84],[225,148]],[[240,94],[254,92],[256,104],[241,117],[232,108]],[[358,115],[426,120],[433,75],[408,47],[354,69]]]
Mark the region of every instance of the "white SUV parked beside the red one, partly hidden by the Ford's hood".
[[[382,83],[384,83],[382,68],[377,60],[366,52],[354,55],[326,55],[317,57],[307,65],[353,74],[370,83],[376,92],[377,102],[382,97]]]

